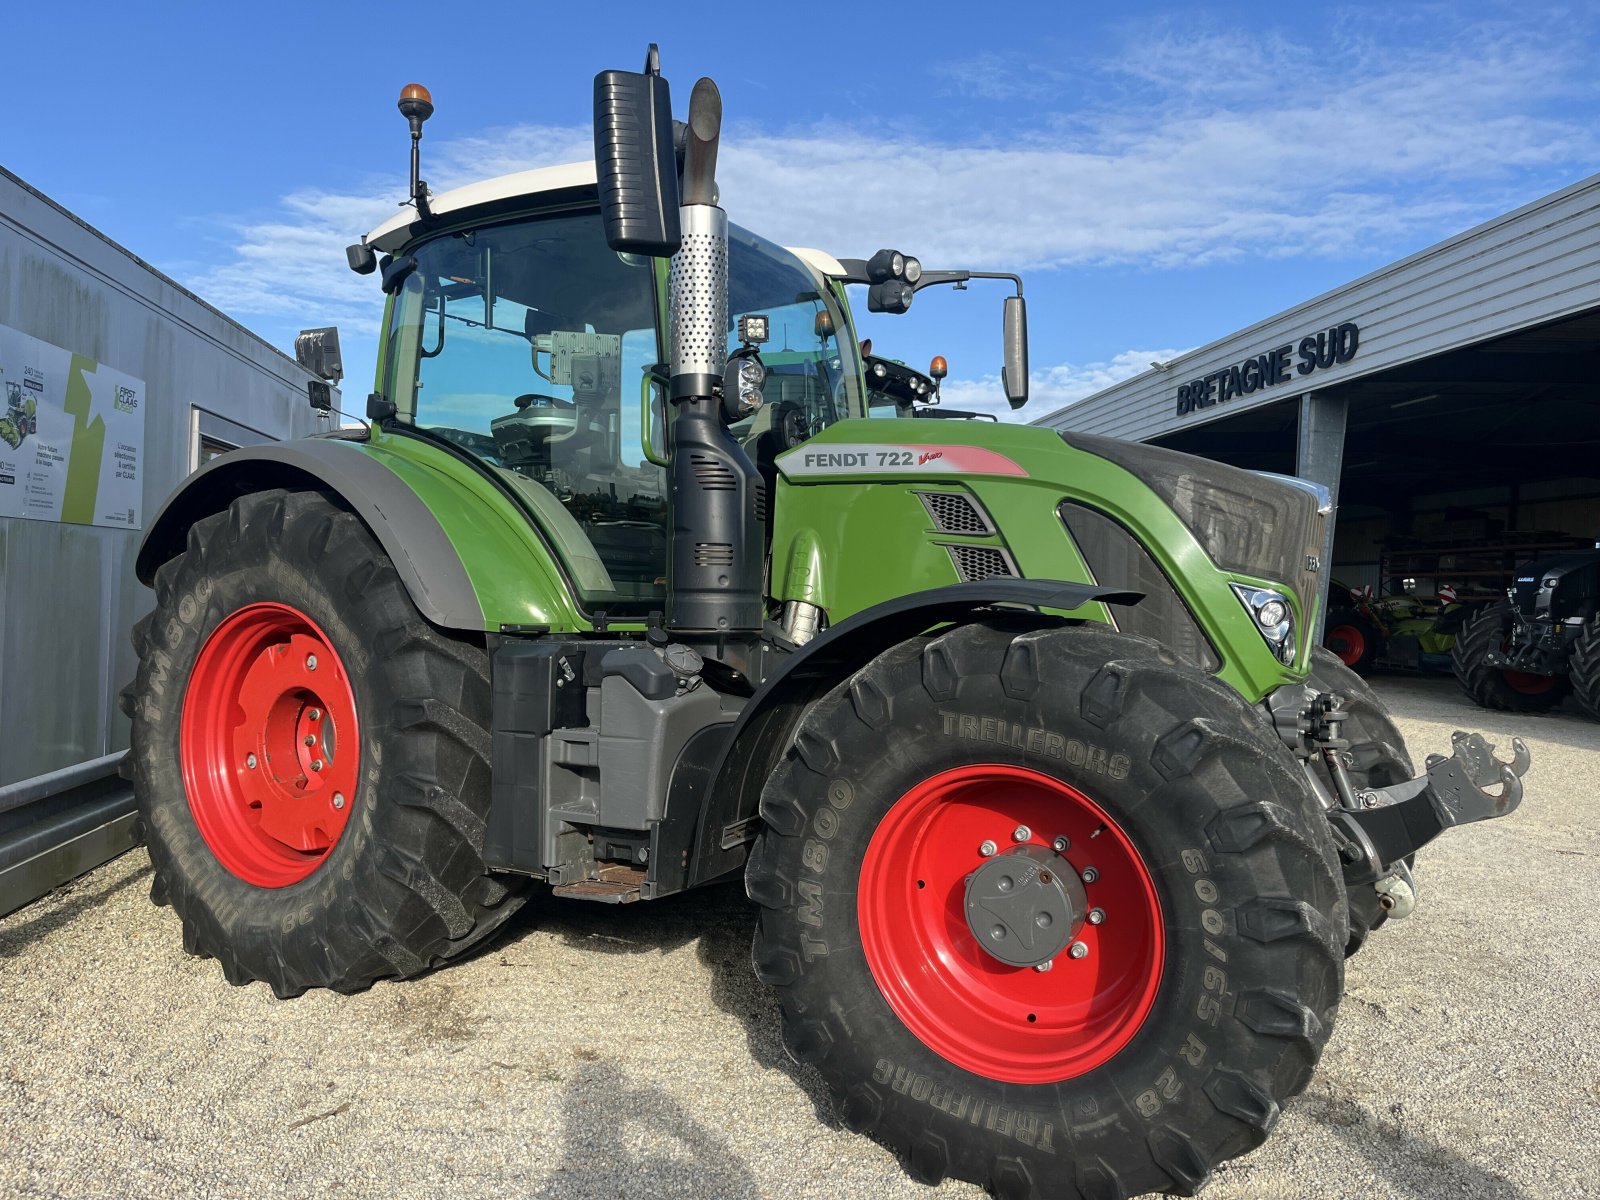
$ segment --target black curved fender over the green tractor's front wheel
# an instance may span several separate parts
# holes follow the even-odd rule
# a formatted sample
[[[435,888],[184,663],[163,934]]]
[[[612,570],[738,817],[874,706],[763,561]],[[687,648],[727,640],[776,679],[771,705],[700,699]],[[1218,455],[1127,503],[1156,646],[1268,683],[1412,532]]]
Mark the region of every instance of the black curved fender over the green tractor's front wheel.
[[[701,787],[685,789],[702,797],[699,830],[690,858],[690,886],[744,864],[760,824],[757,806],[762,787],[794,739],[806,709],[890,646],[934,626],[979,621],[1006,611],[1005,606],[1078,619],[1086,616],[1077,611],[1085,605],[1134,605],[1142,598],[1141,592],[1093,584],[994,578],[914,592],[840,621],[782,659],[776,674],[766,677],[744,706],[739,720],[728,726],[717,744],[702,741],[691,747],[699,750],[699,765],[680,760],[682,774],[696,782],[704,781]],[[674,784],[677,782],[674,778]]]

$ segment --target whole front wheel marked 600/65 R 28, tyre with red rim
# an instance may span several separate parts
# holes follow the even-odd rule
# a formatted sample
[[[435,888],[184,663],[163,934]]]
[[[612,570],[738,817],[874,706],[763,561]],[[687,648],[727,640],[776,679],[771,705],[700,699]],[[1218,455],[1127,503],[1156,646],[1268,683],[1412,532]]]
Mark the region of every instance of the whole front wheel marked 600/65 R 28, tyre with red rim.
[[[1042,622],[914,638],[813,706],[746,872],[757,973],[789,1051],[915,1178],[1194,1192],[1310,1078],[1342,875],[1232,690]]]

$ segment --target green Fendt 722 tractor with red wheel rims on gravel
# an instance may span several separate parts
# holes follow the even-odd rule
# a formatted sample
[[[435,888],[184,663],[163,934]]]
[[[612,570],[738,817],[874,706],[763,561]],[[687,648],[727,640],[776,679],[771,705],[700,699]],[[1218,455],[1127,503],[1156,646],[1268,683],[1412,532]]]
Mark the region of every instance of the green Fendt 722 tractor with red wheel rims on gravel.
[[[1258,1146],[1414,851],[1528,765],[1458,734],[1416,774],[1315,646],[1326,493],[866,419],[846,290],[941,272],[730,226],[717,90],[675,126],[654,54],[597,77],[594,163],[435,197],[402,112],[411,206],[350,248],[370,427],[219,458],[138,558],[130,770],[184,949],[350,992],[534,890],[742,877],[789,1051],[917,1179],[1192,1192]]]

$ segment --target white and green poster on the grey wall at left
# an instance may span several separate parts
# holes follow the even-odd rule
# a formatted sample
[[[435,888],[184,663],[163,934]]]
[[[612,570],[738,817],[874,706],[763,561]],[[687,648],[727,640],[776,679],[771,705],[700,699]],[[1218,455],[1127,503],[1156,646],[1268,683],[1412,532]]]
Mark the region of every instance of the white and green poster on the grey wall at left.
[[[142,526],[144,381],[0,325],[0,517]]]

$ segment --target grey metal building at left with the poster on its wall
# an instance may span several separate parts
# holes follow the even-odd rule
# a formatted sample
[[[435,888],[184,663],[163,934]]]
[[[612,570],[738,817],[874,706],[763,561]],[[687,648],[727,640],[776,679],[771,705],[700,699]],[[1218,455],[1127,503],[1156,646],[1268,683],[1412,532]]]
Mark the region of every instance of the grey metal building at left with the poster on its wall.
[[[307,381],[0,168],[0,914],[126,848],[142,525],[206,458],[315,432]]]

